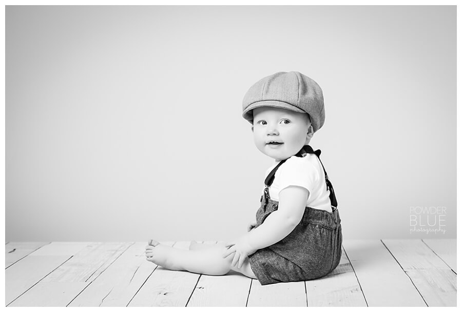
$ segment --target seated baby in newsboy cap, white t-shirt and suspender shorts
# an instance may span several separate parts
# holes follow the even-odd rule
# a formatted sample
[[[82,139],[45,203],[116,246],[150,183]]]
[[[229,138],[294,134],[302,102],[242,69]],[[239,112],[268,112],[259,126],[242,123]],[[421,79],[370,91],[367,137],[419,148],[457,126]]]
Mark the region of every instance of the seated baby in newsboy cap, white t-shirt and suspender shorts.
[[[262,285],[329,274],[340,261],[342,231],[321,151],[309,145],[324,124],[321,88],[299,72],[277,72],[247,91],[243,117],[257,148],[275,160],[246,235],[215,245],[191,242],[189,250],[150,240],[146,259],[199,274],[238,271]]]

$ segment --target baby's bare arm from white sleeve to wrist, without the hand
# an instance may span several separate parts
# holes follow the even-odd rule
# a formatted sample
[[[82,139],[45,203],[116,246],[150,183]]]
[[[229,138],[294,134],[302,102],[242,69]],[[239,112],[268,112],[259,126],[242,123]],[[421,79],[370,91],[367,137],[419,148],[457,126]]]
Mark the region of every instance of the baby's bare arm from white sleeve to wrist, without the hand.
[[[273,245],[289,235],[303,217],[309,191],[291,185],[279,192],[278,210],[273,211],[257,228],[247,233],[248,243],[255,249]]]

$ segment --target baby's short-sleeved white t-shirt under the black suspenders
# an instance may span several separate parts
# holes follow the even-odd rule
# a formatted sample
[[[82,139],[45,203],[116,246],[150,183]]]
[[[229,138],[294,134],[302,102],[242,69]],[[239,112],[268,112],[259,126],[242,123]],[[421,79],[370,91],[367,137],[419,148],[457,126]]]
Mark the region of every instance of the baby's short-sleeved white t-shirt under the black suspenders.
[[[279,162],[275,162],[266,170],[263,181]],[[294,155],[287,159],[276,170],[273,184],[269,186],[269,198],[279,201],[279,192],[290,185],[304,187],[310,192],[306,206],[332,212],[330,191],[325,184],[324,170],[315,154],[306,154],[305,157]],[[264,194],[264,186],[262,194]]]

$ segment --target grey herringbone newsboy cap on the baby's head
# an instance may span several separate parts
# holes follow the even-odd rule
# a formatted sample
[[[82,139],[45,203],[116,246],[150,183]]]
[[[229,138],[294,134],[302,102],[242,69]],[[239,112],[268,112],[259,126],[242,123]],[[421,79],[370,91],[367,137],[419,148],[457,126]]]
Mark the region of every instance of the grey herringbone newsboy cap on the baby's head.
[[[280,107],[310,115],[316,132],[324,124],[324,98],[321,87],[298,71],[280,71],[256,82],[242,100],[242,116],[253,124],[253,109]]]

